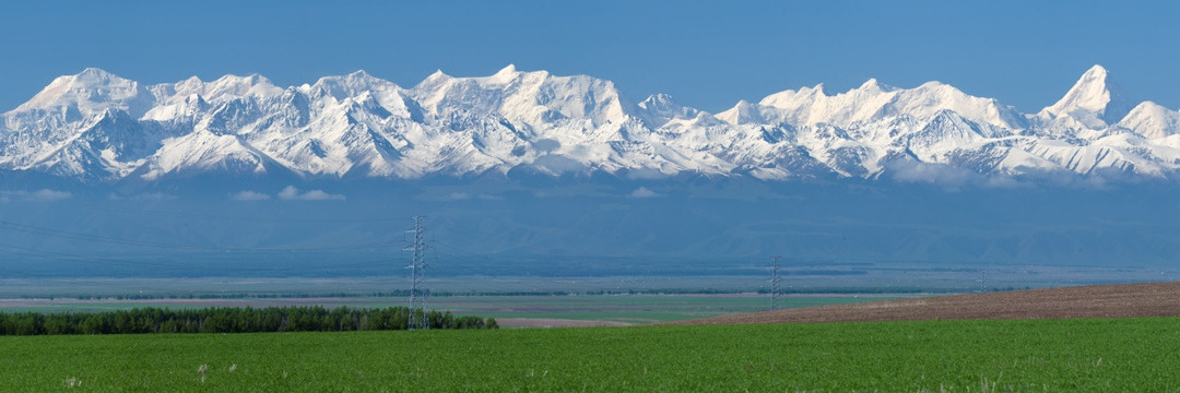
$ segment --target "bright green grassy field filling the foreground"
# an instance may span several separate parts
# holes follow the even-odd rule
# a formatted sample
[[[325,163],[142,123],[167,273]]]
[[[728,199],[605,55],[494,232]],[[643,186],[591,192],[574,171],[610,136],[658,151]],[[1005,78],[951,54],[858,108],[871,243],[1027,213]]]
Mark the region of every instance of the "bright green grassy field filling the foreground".
[[[1180,389],[1175,317],[9,336],[0,348],[2,392]]]

